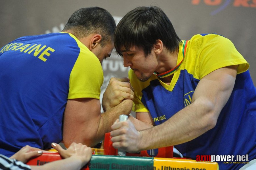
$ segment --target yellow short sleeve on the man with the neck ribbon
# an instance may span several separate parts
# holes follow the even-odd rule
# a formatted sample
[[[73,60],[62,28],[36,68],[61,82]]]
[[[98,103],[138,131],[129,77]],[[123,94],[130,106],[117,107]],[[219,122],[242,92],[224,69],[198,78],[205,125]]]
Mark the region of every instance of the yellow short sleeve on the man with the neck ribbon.
[[[201,36],[201,35],[199,35]],[[208,36],[208,37],[207,37]],[[237,74],[245,72],[249,64],[236,50],[234,44],[227,38],[210,34],[200,42],[199,54],[199,79],[222,67],[238,65]]]

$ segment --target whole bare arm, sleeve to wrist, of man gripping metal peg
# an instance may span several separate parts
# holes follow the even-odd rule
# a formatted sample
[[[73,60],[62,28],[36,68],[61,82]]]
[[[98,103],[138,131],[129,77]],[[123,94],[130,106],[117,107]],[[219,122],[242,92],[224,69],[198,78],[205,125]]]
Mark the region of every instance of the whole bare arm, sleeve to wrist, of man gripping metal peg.
[[[212,129],[232,93],[237,66],[213,71],[200,80],[192,103],[165,123],[141,131],[142,149],[185,143]],[[211,88],[211,90],[209,90]],[[146,142],[150,141],[150,142]]]

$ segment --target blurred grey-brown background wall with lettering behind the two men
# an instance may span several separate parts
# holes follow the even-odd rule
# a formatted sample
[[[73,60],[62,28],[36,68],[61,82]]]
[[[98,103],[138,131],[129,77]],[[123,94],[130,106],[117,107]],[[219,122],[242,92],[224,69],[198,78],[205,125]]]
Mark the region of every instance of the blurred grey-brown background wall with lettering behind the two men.
[[[249,62],[256,84],[256,0],[0,0],[0,48],[21,36],[59,32],[75,10],[92,6],[108,10],[116,23],[135,7],[159,6],[182,40],[202,33],[223,35]],[[102,92],[110,77],[125,77],[129,70],[115,50],[102,67]]]

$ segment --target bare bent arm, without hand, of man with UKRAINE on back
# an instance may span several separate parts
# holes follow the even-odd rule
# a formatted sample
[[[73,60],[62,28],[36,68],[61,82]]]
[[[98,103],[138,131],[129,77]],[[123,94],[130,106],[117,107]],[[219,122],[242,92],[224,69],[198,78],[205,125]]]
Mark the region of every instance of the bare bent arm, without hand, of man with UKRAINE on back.
[[[63,143],[94,146],[104,139],[120,114],[131,112],[132,100],[127,99],[107,112],[100,113],[97,99],[69,100],[64,114]],[[75,113],[75,114],[74,114]]]

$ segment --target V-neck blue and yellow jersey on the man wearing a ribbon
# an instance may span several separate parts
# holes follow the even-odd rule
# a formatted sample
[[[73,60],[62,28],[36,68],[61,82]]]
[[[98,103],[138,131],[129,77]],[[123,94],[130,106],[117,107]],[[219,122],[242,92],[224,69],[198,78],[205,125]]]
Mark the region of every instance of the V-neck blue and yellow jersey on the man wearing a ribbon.
[[[177,64],[182,61],[180,45]],[[196,155],[246,155],[256,157],[256,90],[249,75],[249,64],[232,42],[216,34],[195,35],[187,43],[184,60],[173,75],[170,85],[156,75],[146,82],[138,80],[132,70],[130,82],[134,88],[134,111],[150,112],[155,125],[191,104],[198,82],[212,71],[238,65],[234,90],[222,109],[215,128],[196,139],[177,145],[185,157]],[[209,89],[211,90],[211,89]],[[186,125],[184,125],[186,126]],[[223,163],[220,163],[220,169]],[[228,164],[238,167],[242,164]],[[229,168],[224,168],[229,169]]]

